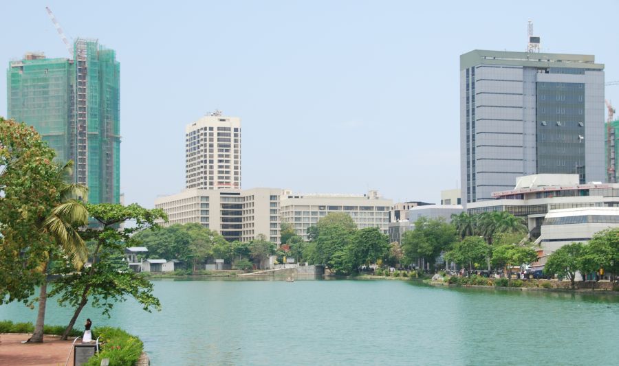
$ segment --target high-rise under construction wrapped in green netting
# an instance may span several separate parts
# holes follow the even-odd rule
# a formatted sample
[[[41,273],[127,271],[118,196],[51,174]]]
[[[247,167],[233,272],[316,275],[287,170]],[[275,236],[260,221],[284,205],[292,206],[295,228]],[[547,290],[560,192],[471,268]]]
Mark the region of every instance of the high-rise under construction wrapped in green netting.
[[[90,203],[120,199],[120,63],[96,40],[78,38],[73,58],[26,54],[7,71],[8,117],[41,134]]]

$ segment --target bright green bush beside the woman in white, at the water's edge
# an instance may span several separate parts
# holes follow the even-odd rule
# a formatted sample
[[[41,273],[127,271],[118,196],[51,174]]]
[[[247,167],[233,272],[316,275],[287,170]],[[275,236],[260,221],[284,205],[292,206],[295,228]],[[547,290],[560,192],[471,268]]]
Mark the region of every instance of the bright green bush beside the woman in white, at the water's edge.
[[[99,366],[103,358],[109,358],[110,365],[133,366],[142,355],[142,341],[120,328],[94,328],[93,333],[101,337],[103,345],[98,356],[89,358],[88,362],[83,364],[85,366]]]

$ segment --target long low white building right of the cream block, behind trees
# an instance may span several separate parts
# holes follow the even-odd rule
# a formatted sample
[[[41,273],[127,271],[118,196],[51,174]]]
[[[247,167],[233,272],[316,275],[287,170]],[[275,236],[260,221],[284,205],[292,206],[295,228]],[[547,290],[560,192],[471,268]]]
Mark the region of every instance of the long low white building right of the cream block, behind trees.
[[[382,233],[389,233],[390,199],[380,198],[378,192],[369,194],[292,194],[281,196],[281,222],[294,226],[296,233],[307,240],[307,228],[332,212],[343,212],[351,216],[359,229],[378,227]]]

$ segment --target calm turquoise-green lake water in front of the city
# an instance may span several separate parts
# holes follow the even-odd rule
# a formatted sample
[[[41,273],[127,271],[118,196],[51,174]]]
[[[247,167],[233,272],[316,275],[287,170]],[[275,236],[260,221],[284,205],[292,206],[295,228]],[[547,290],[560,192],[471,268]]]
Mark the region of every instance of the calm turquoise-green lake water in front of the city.
[[[619,297],[408,281],[155,280],[161,312],[117,304],[94,325],[140,336],[151,365],[612,365]],[[49,324],[72,310],[48,302]],[[36,310],[0,306],[0,319]]]

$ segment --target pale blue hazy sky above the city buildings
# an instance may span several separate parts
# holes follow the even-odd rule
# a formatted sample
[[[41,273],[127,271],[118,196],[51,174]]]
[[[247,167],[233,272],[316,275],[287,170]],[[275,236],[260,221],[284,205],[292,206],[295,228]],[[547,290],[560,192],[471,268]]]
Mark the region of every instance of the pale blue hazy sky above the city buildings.
[[[116,50],[125,203],[184,188],[184,127],[216,109],[241,117],[243,188],[439,203],[460,184],[459,55],[524,51],[531,20],[542,52],[619,80],[619,2],[509,3],[3,1],[0,62],[67,56],[45,6],[69,41]]]

